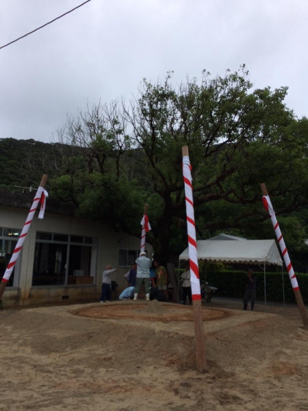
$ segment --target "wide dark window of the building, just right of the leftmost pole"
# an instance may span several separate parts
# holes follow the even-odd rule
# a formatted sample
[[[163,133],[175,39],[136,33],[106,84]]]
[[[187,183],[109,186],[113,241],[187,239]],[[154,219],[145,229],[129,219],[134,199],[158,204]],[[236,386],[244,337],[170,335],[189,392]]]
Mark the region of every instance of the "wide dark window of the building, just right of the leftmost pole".
[[[37,232],[32,286],[94,284],[97,243],[97,238]]]

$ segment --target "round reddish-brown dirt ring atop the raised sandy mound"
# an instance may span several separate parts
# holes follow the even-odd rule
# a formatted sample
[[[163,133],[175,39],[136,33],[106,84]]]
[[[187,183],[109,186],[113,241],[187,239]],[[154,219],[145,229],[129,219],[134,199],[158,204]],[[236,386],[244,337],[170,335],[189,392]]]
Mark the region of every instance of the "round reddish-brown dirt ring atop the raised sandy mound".
[[[226,319],[231,312],[219,308],[203,308],[203,321]],[[194,321],[193,308],[170,303],[103,303],[99,306],[80,308],[73,312],[90,319],[133,319],[145,321]]]

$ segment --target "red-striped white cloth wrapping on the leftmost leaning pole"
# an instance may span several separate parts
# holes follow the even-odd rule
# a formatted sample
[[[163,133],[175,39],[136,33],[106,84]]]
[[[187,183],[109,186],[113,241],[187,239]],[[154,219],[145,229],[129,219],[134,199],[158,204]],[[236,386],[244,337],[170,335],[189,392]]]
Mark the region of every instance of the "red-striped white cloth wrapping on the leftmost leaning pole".
[[[23,225],[23,229],[21,231],[21,235],[18,238],[16,247],[13,251],[12,257],[10,259],[10,262],[8,264],[7,269],[5,270],[5,273],[2,278],[2,282],[7,283],[10,279],[10,276],[14,270],[14,266],[16,264],[17,258],[19,254],[21,253],[21,249],[23,248],[23,243],[25,242],[25,238],[27,236],[27,233],[29,231],[30,225],[32,223],[32,220],[34,219],[34,214],[36,213],[36,209],[38,208],[38,203],[41,203],[41,209],[40,209],[40,214],[38,215],[39,219],[44,218],[44,211],[46,208],[46,197],[48,197],[48,193],[44,188],[38,187],[38,190],[36,192],[36,195],[34,197],[34,201],[31,205],[29,214],[27,216],[27,220],[25,221],[25,224]]]

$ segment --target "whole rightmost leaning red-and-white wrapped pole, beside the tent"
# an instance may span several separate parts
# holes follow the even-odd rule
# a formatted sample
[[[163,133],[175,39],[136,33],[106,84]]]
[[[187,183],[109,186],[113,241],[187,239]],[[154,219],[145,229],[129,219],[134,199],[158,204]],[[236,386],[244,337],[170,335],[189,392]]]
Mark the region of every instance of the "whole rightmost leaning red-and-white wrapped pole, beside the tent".
[[[289,253],[287,252],[287,247],[285,247],[285,241],[283,240],[283,236],[281,234],[281,229],[279,227],[279,223],[277,221],[274,208],[272,207],[272,203],[270,201],[270,197],[268,195],[268,190],[266,190],[266,185],[260,184],[261,185],[261,190],[263,192],[263,197],[262,197],[262,202],[264,205],[264,208],[268,211],[268,214],[270,214],[270,219],[272,221],[272,225],[274,227],[274,232],[277,236],[277,240],[279,243],[279,247],[281,249],[281,253],[283,255],[283,260],[285,262],[285,266],[287,267],[287,272],[289,273],[290,281],[292,284],[292,288],[294,291],[294,295],[296,298],[296,302],[298,305],[298,309],[300,310],[300,316],[302,317],[303,324],[305,328],[308,328],[308,316],[307,316],[307,311],[305,308],[305,304],[302,298],[302,295],[300,294],[300,289],[298,286],[298,282],[296,279],[296,275],[294,273],[294,269],[292,267],[292,262],[289,257]]]

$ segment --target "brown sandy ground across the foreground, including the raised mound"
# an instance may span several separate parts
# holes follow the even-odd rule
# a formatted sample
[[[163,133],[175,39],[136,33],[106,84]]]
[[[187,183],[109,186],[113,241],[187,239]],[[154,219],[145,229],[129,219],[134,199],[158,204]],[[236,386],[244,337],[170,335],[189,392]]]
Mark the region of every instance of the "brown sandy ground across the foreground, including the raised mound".
[[[204,374],[190,307],[1,310],[0,410],[308,411],[308,332],[297,308],[235,308],[203,309]]]

